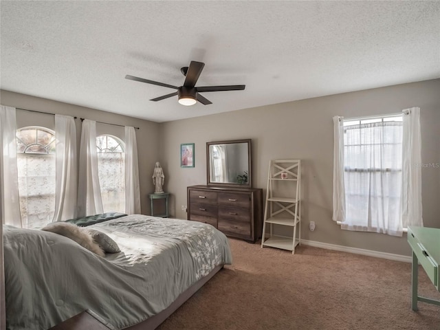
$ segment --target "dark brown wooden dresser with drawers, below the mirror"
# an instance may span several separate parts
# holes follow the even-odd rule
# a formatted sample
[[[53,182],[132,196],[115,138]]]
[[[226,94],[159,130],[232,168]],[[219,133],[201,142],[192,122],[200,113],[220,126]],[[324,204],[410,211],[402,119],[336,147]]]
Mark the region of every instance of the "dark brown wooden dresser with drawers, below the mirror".
[[[188,220],[209,223],[225,235],[255,243],[261,237],[263,190],[190,186]]]

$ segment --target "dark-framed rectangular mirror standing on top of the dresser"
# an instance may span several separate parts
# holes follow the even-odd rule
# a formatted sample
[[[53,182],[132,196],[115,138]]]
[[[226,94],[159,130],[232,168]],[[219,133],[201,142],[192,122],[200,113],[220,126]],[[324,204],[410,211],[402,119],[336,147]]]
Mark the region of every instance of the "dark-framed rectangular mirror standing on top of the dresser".
[[[208,186],[252,187],[251,140],[206,142]]]

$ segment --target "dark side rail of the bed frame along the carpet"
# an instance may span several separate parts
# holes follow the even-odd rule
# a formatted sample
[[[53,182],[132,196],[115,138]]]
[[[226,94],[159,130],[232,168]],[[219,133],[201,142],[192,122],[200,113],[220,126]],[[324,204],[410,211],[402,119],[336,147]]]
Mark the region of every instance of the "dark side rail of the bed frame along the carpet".
[[[161,311],[159,314],[156,314],[155,316],[151,316],[151,318],[147,318],[146,320],[137,323],[137,325],[132,325],[130,327],[124,328],[124,330],[154,330],[159,325],[164,322],[171,314],[175,312],[176,309],[178,309],[181,305],[183,305],[186,300],[188,300],[193,294],[197,292],[198,289],[200,289],[203,285],[205,285],[206,282],[208,282],[212,276],[217,274],[219,270],[223,268],[223,265],[219,265],[215,267],[208,275],[201,278],[199,281],[194,283],[192,286],[188,287],[186,291],[182,292],[177,299],[171,303],[166,309]]]

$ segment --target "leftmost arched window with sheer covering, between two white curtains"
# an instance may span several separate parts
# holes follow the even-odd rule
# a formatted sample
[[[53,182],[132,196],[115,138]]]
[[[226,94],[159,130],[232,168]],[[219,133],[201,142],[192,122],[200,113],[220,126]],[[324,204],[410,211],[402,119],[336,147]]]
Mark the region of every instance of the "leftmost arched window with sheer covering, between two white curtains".
[[[17,129],[17,171],[24,228],[42,228],[55,212],[55,132],[45,127]]]

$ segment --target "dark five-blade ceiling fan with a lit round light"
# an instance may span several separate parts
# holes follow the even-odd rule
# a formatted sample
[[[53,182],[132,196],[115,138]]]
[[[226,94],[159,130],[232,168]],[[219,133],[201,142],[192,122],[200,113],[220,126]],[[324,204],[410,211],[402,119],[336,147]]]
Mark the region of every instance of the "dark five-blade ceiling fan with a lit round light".
[[[229,85],[229,86],[204,86],[204,87],[195,87],[195,84],[197,83],[197,80],[199,79],[199,76],[201,74],[201,70],[203,70],[203,67],[205,66],[205,63],[191,61],[189,67],[182,67],[180,69],[181,73],[184,74],[185,81],[184,85],[177,87],[173,85],[168,85],[164,83],[158,83],[157,81],[148,80],[144,78],[138,78],[134,76],[130,76],[127,74],[125,76],[126,79],[140,81],[141,83],[147,83],[152,85],[158,85],[168,88],[177,89],[174,93],[166,94],[164,96],[159,96],[158,98],[152,98],[151,101],[160,101],[164,100],[166,98],[171,98],[173,96],[178,96],[179,103],[183,105],[192,105],[195,104],[197,101],[199,101],[201,104],[212,104],[210,100],[207,98],[204,98],[199,93],[201,92],[208,92],[208,91],[241,91],[245,89],[245,85]]]

